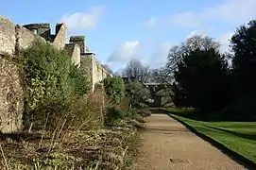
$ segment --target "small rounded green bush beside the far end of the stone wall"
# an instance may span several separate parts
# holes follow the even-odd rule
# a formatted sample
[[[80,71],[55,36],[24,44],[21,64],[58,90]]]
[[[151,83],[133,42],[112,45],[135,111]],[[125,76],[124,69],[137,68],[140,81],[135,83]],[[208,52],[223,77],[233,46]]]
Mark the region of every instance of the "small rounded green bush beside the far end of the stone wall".
[[[107,77],[103,80],[106,94],[112,105],[119,104],[125,97],[125,84],[121,77]]]

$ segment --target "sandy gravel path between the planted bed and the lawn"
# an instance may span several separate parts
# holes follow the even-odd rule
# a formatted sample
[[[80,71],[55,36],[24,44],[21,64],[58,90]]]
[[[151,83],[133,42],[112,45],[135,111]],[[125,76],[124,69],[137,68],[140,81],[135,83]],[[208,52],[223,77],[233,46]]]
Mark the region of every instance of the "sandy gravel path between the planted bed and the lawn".
[[[146,121],[145,144],[134,170],[246,169],[166,114],[152,114]]]

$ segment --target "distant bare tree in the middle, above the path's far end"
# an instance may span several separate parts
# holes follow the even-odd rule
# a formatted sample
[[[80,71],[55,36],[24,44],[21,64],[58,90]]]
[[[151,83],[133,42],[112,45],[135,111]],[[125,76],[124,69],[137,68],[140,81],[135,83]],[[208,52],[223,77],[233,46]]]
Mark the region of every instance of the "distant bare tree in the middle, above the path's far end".
[[[146,82],[149,79],[150,73],[151,71],[149,66],[143,65],[139,59],[131,59],[123,70],[122,75]]]

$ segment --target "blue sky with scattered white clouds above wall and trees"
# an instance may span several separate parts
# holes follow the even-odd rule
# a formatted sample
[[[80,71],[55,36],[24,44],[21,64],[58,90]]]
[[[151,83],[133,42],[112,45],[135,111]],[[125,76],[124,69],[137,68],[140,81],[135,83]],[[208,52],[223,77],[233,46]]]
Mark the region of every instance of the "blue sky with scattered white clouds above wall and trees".
[[[245,3],[246,2],[246,3]],[[116,71],[129,59],[160,67],[168,49],[194,34],[228,49],[237,26],[256,19],[255,0],[1,0],[1,15],[17,24],[64,22],[85,35],[97,59]]]

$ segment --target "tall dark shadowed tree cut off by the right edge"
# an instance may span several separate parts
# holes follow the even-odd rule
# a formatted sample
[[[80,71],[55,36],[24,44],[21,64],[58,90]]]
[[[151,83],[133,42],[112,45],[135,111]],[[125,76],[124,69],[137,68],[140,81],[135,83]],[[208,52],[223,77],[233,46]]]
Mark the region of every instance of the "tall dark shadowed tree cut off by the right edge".
[[[232,50],[231,97],[232,101],[222,117],[236,120],[255,120],[256,102],[256,21],[239,26],[231,37]]]

